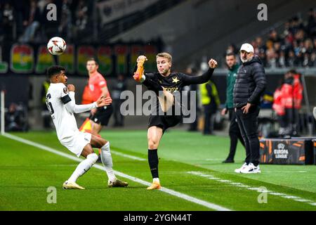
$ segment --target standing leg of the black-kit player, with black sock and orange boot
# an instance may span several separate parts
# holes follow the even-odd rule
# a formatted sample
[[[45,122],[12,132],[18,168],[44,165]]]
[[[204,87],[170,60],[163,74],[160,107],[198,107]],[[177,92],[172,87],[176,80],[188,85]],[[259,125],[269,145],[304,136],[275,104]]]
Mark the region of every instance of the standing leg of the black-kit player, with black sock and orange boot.
[[[147,188],[147,190],[159,189],[160,181],[158,174],[158,154],[157,149],[159,142],[162,139],[163,131],[160,127],[150,127],[147,131],[148,140],[148,163],[150,165],[150,172],[152,173],[152,185]]]

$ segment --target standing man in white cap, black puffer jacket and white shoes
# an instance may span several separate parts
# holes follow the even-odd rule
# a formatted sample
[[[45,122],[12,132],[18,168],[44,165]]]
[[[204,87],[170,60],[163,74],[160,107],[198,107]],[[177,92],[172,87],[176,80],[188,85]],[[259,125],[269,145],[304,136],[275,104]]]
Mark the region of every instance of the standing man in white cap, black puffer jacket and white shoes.
[[[242,167],[235,169],[235,172],[256,174],[261,173],[258,114],[260,97],[266,86],[265,70],[261,59],[254,55],[254,47],[251,44],[242,44],[239,53],[242,65],[237,72],[235,82],[234,106],[237,123],[245,143],[246,160]]]

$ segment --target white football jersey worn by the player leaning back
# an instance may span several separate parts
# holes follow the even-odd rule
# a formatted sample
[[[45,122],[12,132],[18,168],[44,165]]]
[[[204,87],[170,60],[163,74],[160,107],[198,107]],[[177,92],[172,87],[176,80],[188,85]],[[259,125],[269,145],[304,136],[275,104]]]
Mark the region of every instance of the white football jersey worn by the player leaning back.
[[[65,84],[51,83],[46,94],[46,105],[56,128],[58,140],[74,136],[78,131],[74,114],[67,111],[65,104],[72,101]]]

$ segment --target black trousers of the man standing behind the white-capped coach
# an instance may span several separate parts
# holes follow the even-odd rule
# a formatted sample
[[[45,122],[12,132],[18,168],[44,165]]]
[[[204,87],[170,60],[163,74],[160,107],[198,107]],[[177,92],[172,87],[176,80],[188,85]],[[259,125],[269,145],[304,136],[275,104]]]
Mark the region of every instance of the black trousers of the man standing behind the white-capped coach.
[[[235,109],[234,108],[229,108],[228,109],[228,115],[229,115],[229,118],[230,118],[230,129],[229,129],[229,134],[230,134],[230,153],[228,155],[227,160],[234,160],[238,140],[244,146],[244,139],[242,138],[242,134],[241,134],[240,129],[238,127]]]

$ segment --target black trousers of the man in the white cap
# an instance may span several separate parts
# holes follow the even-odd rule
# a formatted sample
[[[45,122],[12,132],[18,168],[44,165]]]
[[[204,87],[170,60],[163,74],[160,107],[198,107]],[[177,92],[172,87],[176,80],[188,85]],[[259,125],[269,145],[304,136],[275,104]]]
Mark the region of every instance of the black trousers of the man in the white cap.
[[[258,138],[258,115],[260,107],[253,105],[249,108],[249,112],[244,114],[242,108],[236,109],[237,123],[244,139],[246,148],[247,164],[254,163],[255,166],[259,164],[260,159],[260,143]]]

